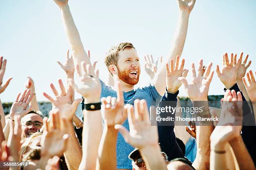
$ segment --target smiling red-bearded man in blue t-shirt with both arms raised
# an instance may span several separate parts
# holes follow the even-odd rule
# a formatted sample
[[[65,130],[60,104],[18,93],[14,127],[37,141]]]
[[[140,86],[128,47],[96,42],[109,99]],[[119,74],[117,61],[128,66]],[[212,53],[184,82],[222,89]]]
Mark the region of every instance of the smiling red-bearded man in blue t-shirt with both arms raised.
[[[145,99],[149,109],[151,105],[157,105],[161,101],[161,97],[166,91],[165,64],[167,62],[169,63],[171,60],[175,63],[175,57],[182,54],[187,35],[189,15],[195,5],[195,1],[196,0],[177,0],[179,6],[179,19],[173,36],[170,54],[163,59],[163,62],[156,72],[153,81],[148,83],[148,86],[134,89],[134,85],[136,85],[139,80],[141,67],[137,51],[133,45],[129,42],[123,42],[110,48],[107,56],[105,57],[105,64],[108,67],[110,74],[114,78],[115,85],[114,87],[107,86],[101,81],[101,97],[107,97],[106,101],[108,103],[115,102],[116,99],[113,97],[117,96],[117,85],[118,82],[120,82],[125,104],[133,105],[134,100]],[[60,8],[68,41],[73,50],[74,65],[81,65],[81,63],[84,62],[86,65],[92,66],[90,57],[88,57],[84,50],[79,32],[69,10],[68,0],[54,0],[54,2],[56,2]],[[117,15],[120,14],[117,13]],[[115,23],[118,23],[118,20],[115,20]],[[179,59],[179,57],[177,59]],[[76,71],[78,71],[77,68]],[[179,77],[180,75],[177,76]],[[172,91],[169,92],[175,93],[176,91],[177,89],[172,89]],[[111,96],[112,99],[110,99],[111,97],[108,96]],[[87,103],[87,101],[85,101],[85,104],[89,105],[92,103]],[[129,128],[128,120],[125,121],[124,126],[125,128]],[[117,130],[115,130],[113,127],[110,130],[113,130],[113,134],[117,133]],[[114,138],[111,139],[113,139],[113,142],[115,142]],[[118,133],[117,169],[132,169],[131,160],[128,159],[128,155],[132,150],[133,147],[126,143],[122,135]],[[110,160],[115,162],[115,158],[109,158],[109,163]]]

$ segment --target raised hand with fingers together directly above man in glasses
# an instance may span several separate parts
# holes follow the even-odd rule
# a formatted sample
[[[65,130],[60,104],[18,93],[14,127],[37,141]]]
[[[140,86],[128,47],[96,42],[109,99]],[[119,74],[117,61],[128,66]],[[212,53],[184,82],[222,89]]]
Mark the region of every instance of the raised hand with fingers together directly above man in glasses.
[[[10,108],[10,119],[14,120],[14,115],[19,115],[20,117],[25,116],[32,110],[32,105],[28,107],[29,102],[31,102],[34,93],[31,92],[30,89],[25,90],[20,97],[20,93],[18,94],[15,102]],[[20,99],[19,99],[20,98]],[[28,109],[27,109],[28,107]]]

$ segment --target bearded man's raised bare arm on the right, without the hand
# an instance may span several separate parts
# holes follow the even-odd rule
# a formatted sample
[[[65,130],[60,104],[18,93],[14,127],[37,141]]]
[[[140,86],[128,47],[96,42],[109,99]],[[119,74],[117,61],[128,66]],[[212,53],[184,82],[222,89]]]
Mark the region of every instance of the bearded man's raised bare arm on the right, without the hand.
[[[177,29],[174,33],[174,37],[172,40],[171,50],[168,57],[164,59],[164,62],[161,63],[159,67],[159,71],[156,73],[154,77],[154,84],[156,86],[156,90],[160,95],[164,94],[165,87],[165,77],[166,77],[166,69],[165,64],[170,63],[170,60],[174,60],[177,55],[182,54],[182,50],[184,47],[184,43],[187,36],[187,28],[188,28],[188,20],[189,20],[189,12],[181,11],[179,13],[179,20],[177,23]]]

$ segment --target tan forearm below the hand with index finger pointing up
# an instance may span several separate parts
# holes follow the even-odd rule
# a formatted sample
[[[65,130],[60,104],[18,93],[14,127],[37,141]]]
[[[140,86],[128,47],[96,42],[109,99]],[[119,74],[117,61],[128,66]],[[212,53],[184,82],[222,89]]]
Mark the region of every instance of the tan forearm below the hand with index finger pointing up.
[[[96,170],[116,169],[116,141],[118,130],[114,127],[104,127],[99,146]],[[111,159],[110,159],[111,158]]]

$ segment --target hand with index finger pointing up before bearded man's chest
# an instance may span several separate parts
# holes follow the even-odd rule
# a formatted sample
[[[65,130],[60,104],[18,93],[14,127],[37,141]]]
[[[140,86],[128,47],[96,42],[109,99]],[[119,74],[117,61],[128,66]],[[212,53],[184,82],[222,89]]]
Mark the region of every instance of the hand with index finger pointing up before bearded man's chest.
[[[108,96],[102,97],[102,118],[107,126],[122,125],[127,118],[127,109],[124,109],[123,91],[120,82],[118,83],[117,98]]]

